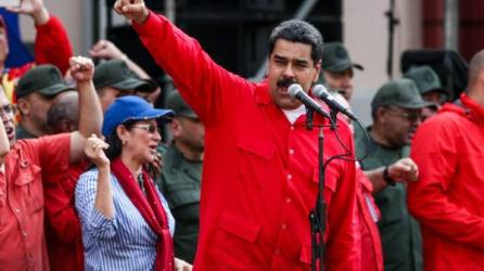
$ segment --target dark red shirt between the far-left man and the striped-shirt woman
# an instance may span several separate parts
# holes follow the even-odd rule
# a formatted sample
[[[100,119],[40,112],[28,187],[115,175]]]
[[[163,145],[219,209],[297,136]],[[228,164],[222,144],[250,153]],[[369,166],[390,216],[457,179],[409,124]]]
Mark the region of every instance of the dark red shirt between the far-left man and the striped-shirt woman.
[[[88,163],[72,165],[67,175],[49,178],[43,182],[46,204],[46,241],[50,269],[84,270],[84,246],[79,217],[74,207],[74,191]]]

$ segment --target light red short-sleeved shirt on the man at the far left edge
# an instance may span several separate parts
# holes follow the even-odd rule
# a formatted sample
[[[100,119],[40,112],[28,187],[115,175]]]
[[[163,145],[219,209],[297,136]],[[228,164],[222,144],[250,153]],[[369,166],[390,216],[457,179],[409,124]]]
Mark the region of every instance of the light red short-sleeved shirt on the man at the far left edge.
[[[69,134],[59,134],[20,140],[7,155],[0,178],[2,270],[49,270],[42,180],[66,175],[68,150]]]

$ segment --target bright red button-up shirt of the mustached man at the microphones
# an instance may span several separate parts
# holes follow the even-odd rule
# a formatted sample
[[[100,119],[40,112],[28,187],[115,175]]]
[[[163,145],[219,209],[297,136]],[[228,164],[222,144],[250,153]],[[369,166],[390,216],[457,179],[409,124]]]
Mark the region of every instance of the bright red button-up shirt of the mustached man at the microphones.
[[[267,83],[222,69],[163,16],[151,13],[133,26],[205,125],[195,270],[309,270],[318,129],[306,130],[305,116],[290,125]],[[319,116],[315,124],[322,124]],[[339,126],[353,150],[348,127]],[[324,137],[326,158],[346,153],[329,129]],[[332,162],[323,193],[326,270],[359,270],[355,164]]]

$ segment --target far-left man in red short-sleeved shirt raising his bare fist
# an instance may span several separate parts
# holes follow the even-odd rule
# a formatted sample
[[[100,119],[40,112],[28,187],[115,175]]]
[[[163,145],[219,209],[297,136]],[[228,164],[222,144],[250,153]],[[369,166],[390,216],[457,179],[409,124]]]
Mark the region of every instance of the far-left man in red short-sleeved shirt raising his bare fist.
[[[73,78],[79,93],[79,130],[16,140],[13,111],[0,92],[0,143],[9,139],[0,173],[0,267],[2,270],[49,270],[44,238],[43,184],[65,178],[69,166],[82,160],[90,134],[100,134],[102,113],[92,85],[93,64],[85,57],[71,59]],[[4,143],[4,142],[3,142]],[[4,150],[4,145],[0,146]],[[62,261],[62,259],[56,259]],[[64,270],[67,267],[64,267]]]

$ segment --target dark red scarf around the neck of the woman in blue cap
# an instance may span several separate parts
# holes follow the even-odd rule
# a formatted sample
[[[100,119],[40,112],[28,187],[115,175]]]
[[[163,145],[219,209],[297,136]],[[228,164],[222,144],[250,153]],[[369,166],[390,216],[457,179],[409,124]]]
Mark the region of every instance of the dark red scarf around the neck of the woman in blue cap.
[[[138,208],[150,228],[160,236],[156,247],[155,270],[174,270],[175,255],[173,240],[168,229],[168,219],[163,209],[153,180],[148,172],[143,170],[143,186],[147,193],[144,196],[137,180],[132,178],[131,171],[129,171],[125,164],[123,164],[120,158],[115,159],[111,164],[111,170],[119,181],[119,184],[123,186],[123,190],[126,192],[126,195],[128,195],[132,205]]]

